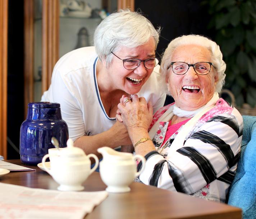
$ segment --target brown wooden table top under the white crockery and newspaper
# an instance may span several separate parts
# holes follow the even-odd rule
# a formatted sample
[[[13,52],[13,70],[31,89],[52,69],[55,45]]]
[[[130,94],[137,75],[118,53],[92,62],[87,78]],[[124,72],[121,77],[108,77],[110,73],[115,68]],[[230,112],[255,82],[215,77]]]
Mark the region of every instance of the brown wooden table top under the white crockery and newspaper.
[[[26,166],[20,160],[6,160],[6,162]],[[58,183],[52,177],[39,169],[36,171],[10,172],[0,178],[0,182],[31,188],[45,188],[56,190]],[[106,185],[101,181],[99,173],[92,173],[83,183],[84,191],[105,190]],[[99,206],[86,215],[85,219],[241,219],[239,208],[206,201],[186,194],[171,192],[133,182],[131,192],[109,196]]]

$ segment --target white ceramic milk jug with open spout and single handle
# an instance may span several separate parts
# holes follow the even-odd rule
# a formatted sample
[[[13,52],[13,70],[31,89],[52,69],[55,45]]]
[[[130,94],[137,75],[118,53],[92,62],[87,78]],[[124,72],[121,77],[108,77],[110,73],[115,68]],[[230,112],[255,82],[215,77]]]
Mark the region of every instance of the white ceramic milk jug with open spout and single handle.
[[[145,166],[145,158],[141,155],[117,152],[109,147],[98,148],[97,151],[103,155],[100,162],[100,176],[108,186],[108,192],[129,192],[129,185],[137,177]],[[137,172],[136,159],[142,161],[142,168]]]

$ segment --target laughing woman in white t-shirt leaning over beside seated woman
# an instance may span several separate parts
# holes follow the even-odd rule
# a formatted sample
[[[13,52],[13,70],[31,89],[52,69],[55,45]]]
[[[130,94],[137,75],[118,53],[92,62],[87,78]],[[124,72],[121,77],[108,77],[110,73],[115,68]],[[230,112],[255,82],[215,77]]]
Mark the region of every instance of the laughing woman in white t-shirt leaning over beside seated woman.
[[[102,20],[94,45],[73,50],[57,62],[42,101],[58,102],[68,124],[69,138],[86,154],[97,148],[129,145],[127,129],[116,121],[122,95],[138,94],[164,105],[155,55],[159,29],[143,15],[120,10]]]

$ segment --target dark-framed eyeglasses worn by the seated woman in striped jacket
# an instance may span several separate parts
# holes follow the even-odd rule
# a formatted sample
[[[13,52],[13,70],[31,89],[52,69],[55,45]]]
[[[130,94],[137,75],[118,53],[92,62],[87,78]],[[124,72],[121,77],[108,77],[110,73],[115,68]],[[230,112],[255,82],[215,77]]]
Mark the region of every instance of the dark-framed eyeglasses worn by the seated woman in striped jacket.
[[[211,62],[197,62],[195,64],[187,64],[186,62],[171,62],[167,69],[169,69],[171,66],[173,73],[177,75],[186,74],[190,66],[193,66],[196,74],[207,75],[211,71],[211,66],[214,67]]]

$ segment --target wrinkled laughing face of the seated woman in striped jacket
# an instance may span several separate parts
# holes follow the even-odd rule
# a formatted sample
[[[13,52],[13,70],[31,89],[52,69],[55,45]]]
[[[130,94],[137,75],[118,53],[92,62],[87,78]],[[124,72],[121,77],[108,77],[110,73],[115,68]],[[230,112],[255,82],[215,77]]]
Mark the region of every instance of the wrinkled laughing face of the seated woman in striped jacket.
[[[174,50],[171,61],[188,64],[211,62],[211,53],[203,46],[184,45]],[[196,74],[192,66],[189,67],[186,74],[176,75],[171,66],[166,76],[166,82],[169,83],[169,91],[176,106],[187,111],[193,111],[204,106],[212,98],[217,81],[218,73],[213,66],[207,75]],[[188,89],[189,86],[194,87],[194,89]]]

